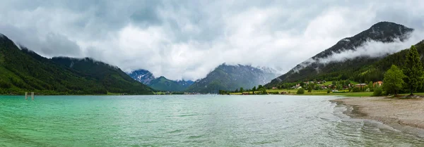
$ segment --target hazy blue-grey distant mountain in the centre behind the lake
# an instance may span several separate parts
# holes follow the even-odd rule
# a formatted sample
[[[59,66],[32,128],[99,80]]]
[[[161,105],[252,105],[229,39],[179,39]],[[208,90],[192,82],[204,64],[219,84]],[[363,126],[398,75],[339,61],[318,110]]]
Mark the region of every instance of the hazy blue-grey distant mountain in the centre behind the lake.
[[[269,70],[254,68],[250,65],[219,65],[204,79],[199,79],[186,91],[218,92],[219,90],[235,90],[243,87],[252,89],[259,84],[266,84],[275,78],[276,74]]]

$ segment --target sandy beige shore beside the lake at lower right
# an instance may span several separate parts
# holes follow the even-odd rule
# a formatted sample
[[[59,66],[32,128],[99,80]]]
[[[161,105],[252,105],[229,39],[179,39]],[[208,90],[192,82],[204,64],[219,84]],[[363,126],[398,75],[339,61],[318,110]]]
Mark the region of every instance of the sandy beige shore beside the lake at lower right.
[[[424,98],[355,97],[333,101],[352,106],[352,112],[346,112],[351,117],[424,129]]]

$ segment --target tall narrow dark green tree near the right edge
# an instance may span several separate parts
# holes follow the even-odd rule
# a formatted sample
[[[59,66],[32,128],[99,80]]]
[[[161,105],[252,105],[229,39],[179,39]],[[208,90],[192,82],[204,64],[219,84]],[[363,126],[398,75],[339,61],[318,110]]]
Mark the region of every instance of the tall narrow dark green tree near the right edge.
[[[415,46],[411,46],[411,49],[406,54],[405,63],[404,74],[406,75],[406,87],[413,94],[423,83],[423,63],[420,61],[420,54]]]

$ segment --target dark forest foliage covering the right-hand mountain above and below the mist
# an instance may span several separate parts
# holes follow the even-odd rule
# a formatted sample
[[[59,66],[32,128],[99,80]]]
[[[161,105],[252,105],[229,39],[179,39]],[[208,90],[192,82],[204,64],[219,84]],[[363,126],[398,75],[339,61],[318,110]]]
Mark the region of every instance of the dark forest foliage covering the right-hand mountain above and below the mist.
[[[382,34],[376,35],[373,33],[377,30],[382,32]],[[337,44],[331,46],[331,48],[326,49],[325,51],[322,51],[321,53],[318,53],[316,56],[312,57],[312,59],[325,58],[334,52],[340,53],[350,49],[355,49],[358,46],[366,44],[369,39],[386,43],[394,41],[394,38],[399,37],[399,39],[403,40],[406,39],[403,34],[408,34],[408,32],[412,31],[413,29],[403,25],[387,22],[377,23],[373,25],[373,28],[360,32],[354,37],[348,37],[338,41]],[[417,49],[420,50],[422,47],[423,46],[421,45],[420,47],[417,46]],[[423,51],[419,52],[423,54]],[[394,55],[387,57],[360,56],[356,58],[349,58],[341,62],[329,62],[326,64],[312,63],[307,67],[298,65],[286,74],[273,79],[269,84],[266,84],[266,87],[273,87],[273,85],[281,85],[281,83],[286,82],[307,81],[310,79],[326,81],[350,79],[360,83],[365,81],[382,81],[384,72],[390,68],[390,65],[395,64],[402,67],[401,64],[404,63],[405,59],[404,55],[404,51],[401,51],[400,53],[394,53]]]

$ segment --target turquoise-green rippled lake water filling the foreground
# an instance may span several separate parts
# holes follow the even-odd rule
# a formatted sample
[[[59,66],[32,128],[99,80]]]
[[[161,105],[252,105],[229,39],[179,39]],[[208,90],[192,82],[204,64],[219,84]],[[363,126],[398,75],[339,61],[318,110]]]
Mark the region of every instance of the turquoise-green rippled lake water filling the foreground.
[[[329,96],[0,96],[0,146],[424,146]]]

